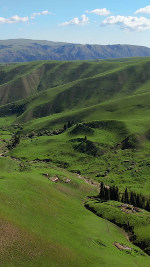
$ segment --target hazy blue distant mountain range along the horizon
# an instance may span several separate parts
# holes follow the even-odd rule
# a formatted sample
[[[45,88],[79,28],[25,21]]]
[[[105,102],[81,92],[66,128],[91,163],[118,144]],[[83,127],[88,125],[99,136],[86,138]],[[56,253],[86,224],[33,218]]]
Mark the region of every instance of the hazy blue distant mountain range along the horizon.
[[[0,41],[0,63],[36,60],[95,60],[149,57],[150,48],[132,45],[80,45],[30,39]]]

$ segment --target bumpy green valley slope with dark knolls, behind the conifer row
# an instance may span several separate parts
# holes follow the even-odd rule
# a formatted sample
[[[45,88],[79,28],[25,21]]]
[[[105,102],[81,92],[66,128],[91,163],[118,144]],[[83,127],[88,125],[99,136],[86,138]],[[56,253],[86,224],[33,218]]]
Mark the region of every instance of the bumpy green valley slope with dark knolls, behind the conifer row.
[[[25,161],[48,159],[70,171],[79,170],[89,179],[114,183],[122,191],[127,186],[130,191],[148,197],[148,121],[91,121],[72,126],[58,135],[24,136],[8,154]],[[133,129],[138,132],[133,133]],[[135,164],[132,165],[132,162]],[[106,172],[108,168],[110,173]]]

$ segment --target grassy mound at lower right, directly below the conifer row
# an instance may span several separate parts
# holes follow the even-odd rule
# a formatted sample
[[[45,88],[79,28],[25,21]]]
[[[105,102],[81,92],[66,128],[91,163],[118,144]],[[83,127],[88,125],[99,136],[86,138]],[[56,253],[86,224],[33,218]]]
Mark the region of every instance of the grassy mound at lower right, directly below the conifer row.
[[[138,213],[125,213],[121,209],[121,203],[116,201],[108,201],[98,203],[95,201],[87,201],[85,206],[92,210],[96,215],[107,219],[128,232],[129,239],[134,244],[138,244],[145,251],[149,247],[149,229],[150,216],[149,212],[145,211]],[[128,228],[129,227],[129,228]]]

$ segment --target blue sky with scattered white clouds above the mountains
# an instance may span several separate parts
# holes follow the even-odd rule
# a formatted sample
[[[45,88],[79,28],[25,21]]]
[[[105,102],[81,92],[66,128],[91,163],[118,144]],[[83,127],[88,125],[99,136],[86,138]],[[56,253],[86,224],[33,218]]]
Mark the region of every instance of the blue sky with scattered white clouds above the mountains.
[[[150,2],[139,0],[5,0],[0,39],[150,47]]]

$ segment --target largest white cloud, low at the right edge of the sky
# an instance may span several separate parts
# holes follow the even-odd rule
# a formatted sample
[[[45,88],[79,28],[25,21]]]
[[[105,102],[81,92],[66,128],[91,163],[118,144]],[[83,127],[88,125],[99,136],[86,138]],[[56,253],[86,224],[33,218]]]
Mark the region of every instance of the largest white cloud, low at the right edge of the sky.
[[[100,26],[119,25],[121,30],[126,31],[143,31],[150,30],[150,20],[144,17],[124,17],[124,16],[110,16],[106,18]]]

